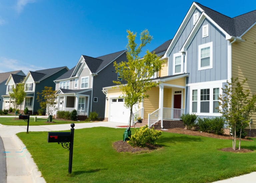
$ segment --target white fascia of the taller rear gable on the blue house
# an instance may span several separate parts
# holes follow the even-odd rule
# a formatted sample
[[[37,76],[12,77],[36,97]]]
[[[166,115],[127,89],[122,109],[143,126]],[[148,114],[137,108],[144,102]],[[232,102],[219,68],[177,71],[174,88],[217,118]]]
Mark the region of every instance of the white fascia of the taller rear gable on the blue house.
[[[182,31],[184,30],[189,18],[192,16],[192,13],[194,12],[195,9],[199,9],[201,12],[204,12],[202,8],[200,8],[195,2],[192,3],[192,5],[190,6],[185,18],[183,19],[179,29],[177,30],[175,36],[172,39],[171,44],[169,45],[169,47],[167,48],[165,54],[164,54],[164,58],[167,58],[171,52],[171,50],[173,49],[173,47],[176,44],[177,39],[180,37]]]

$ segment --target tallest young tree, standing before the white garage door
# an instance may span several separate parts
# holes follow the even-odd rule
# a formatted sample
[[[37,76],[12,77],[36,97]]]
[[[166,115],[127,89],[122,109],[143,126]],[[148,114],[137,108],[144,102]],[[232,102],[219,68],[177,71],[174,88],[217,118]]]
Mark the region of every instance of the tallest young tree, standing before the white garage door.
[[[130,109],[130,129],[133,115],[132,108],[134,104],[142,102],[143,98],[148,98],[147,91],[157,85],[157,83],[151,81],[151,78],[161,69],[163,61],[155,53],[149,51],[146,52],[143,58],[139,57],[142,48],[152,40],[152,36],[149,35],[148,30],[140,33],[141,43],[138,46],[135,43],[136,33],[133,34],[130,30],[127,30],[127,33],[127,62],[114,62],[119,80],[113,82],[119,85],[122,91],[122,98],[124,98],[124,105]]]

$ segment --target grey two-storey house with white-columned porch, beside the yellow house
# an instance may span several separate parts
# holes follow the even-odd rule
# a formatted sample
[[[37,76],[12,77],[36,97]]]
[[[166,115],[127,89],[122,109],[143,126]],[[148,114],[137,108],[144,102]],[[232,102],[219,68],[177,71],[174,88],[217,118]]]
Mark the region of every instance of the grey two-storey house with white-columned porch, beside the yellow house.
[[[126,50],[96,58],[82,55],[75,67],[54,81],[58,110],[76,109],[80,120],[92,111],[104,118],[106,96],[102,88],[117,80],[114,61],[126,61]]]

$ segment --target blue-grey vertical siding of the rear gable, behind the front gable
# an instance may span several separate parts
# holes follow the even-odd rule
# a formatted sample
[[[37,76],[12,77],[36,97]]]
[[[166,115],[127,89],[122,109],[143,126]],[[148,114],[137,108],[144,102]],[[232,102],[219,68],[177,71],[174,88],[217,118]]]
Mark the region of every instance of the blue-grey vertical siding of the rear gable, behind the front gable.
[[[199,16],[201,15],[201,11],[199,11],[197,8],[194,10],[194,13],[199,13]],[[185,28],[183,29],[180,37],[178,38],[177,42],[175,43],[175,46],[173,47],[173,49],[171,50],[170,54],[168,55],[169,59],[168,59],[168,65],[169,65],[169,75],[173,75],[173,54],[174,53],[179,53],[181,47],[183,46],[183,44],[185,43],[185,41],[187,40],[191,30],[193,29],[194,25],[193,25],[193,14],[191,15],[191,17],[189,18],[189,21],[187,22]],[[183,71],[184,71],[184,62],[183,62]]]

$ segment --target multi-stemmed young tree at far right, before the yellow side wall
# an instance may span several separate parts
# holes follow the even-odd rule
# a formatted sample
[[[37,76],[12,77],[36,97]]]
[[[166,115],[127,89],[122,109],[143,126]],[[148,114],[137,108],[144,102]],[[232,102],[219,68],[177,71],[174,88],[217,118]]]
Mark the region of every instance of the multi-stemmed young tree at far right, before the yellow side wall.
[[[236,131],[239,127],[239,150],[241,147],[242,129],[248,126],[250,118],[256,112],[256,95],[250,95],[250,90],[244,90],[243,85],[247,78],[242,82],[238,78],[231,78],[231,82],[222,88],[222,95],[219,97],[219,112],[226,119],[228,127],[232,133],[232,147],[236,148]]]

